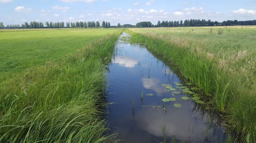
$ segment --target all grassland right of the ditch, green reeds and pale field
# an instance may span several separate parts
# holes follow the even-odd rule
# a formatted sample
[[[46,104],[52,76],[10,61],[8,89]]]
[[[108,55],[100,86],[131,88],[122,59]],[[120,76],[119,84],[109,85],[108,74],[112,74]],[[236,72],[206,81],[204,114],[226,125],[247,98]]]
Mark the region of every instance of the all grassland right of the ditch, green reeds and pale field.
[[[256,142],[255,27],[130,30],[133,42],[175,63],[205,101],[226,115],[237,142]]]

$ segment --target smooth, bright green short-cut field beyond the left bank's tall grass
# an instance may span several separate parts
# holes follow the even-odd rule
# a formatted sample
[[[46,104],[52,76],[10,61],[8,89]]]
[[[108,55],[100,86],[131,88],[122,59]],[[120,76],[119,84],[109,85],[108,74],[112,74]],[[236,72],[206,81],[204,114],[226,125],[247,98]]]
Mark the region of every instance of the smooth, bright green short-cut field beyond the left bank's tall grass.
[[[0,30],[0,82],[46,61],[62,59],[116,29]]]

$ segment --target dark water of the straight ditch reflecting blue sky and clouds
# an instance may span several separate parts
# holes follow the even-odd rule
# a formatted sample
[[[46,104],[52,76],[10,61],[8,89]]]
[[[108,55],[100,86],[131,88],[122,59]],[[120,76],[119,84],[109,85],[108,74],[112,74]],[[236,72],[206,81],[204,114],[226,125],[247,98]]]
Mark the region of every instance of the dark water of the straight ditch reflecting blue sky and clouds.
[[[192,94],[165,91],[161,84],[174,82],[186,86],[172,70],[145,47],[125,42],[123,33],[115,47],[115,55],[109,65],[107,88],[109,108],[108,123],[113,133],[118,133],[121,143],[157,143],[167,140],[186,143],[214,143],[225,139],[219,116],[194,100],[181,100]],[[143,99],[141,93],[143,91]],[[146,94],[153,93],[153,96]],[[163,102],[174,97],[177,101]],[[174,104],[182,107],[174,107]],[[206,108],[206,109],[205,109]]]

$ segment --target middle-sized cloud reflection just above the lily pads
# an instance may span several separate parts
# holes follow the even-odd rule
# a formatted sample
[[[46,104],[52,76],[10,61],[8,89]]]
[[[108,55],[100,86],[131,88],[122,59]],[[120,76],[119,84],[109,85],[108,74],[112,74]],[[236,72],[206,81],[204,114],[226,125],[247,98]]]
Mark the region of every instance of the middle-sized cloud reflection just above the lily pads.
[[[143,87],[146,89],[152,89],[155,90],[158,94],[158,96],[160,96],[162,93],[164,93],[163,86],[160,85],[160,80],[156,79],[156,78],[142,78],[141,79],[142,83],[143,83]]]

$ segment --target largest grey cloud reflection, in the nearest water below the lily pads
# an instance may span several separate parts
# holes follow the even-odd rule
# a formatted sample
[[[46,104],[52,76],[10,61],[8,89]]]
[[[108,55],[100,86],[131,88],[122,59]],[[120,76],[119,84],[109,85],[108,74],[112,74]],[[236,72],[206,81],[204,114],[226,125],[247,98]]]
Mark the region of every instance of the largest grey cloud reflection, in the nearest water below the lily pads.
[[[170,108],[171,107],[169,107],[169,109]],[[161,126],[165,124],[167,137],[175,135],[176,139],[179,140],[189,138],[188,142],[191,143],[204,141],[204,132],[207,125],[203,124],[203,122],[206,121],[196,120],[196,117],[192,116],[191,111],[186,105],[181,108],[173,107],[171,111],[167,111],[166,115],[163,116],[163,114],[165,113],[163,113],[162,110],[141,108],[140,114],[136,116],[135,120],[141,129],[155,136],[161,137]],[[147,126],[145,126],[145,122],[147,122]],[[190,128],[191,125],[194,126],[193,133],[192,128]]]

